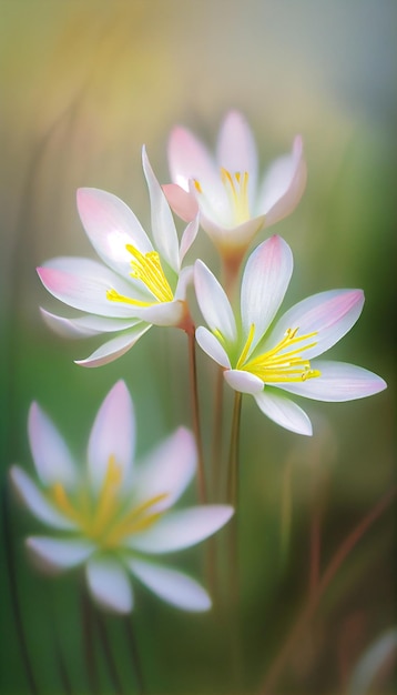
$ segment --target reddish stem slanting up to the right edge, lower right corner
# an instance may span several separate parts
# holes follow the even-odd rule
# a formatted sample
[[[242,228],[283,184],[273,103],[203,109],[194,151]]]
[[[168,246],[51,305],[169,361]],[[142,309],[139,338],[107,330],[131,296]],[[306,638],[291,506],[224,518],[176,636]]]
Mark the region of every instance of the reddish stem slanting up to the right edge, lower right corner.
[[[381,497],[381,500],[370,510],[370,512],[360,521],[360,523],[357,524],[352,533],[349,533],[345,541],[340,543],[334,556],[330,558],[322,578],[317,583],[316,591],[312,595],[309,595],[307,603],[304,605],[296,622],[294,623],[292,631],[287,636],[287,639],[285,641],[281,652],[278,653],[278,656],[273,662],[269,671],[267,672],[266,677],[259,689],[261,695],[266,695],[267,693],[273,692],[276,678],[278,677],[283,668],[285,668],[285,663],[295,645],[295,642],[301,636],[302,629],[311,621],[313,613],[315,612],[324,592],[330,584],[339,567],[343,565],[346,557],[348,557],[348,555],[352,553],[358,541],[360,541],[360,538],[374,524],[374,522],[376,522],[377,518],[389,506],[389,504],[396,496],[396,493],[397,488],[394,488],[389,491],[384,497]]]

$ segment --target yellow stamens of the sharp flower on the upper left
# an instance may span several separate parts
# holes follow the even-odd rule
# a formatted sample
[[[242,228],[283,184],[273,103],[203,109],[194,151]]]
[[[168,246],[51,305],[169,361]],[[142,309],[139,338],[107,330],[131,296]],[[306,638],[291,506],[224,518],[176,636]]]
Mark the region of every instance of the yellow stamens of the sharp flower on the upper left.
[[[159,253],[156,251],[141,253],[141,251],[135,249],[132,244],[126,244],[125,248],[132,255],[132,270],[130,275],[136,280],[141,280],[157,302],[172,302],[174,295],[165,278]],[[155,303],[119,294],[119,292],[113,289],[106,291],[106,299],[111,302],[124,302],[126,304],[133,304],[134,306],[151,306]]]

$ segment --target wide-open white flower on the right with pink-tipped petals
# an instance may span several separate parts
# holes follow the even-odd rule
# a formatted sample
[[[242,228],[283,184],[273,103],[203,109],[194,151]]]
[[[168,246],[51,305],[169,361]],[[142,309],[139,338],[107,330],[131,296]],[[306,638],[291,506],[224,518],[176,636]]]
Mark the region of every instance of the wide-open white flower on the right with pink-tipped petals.
[[[235,391],[252,394],[265,415],[283,427],[309,435],[311,421],[292,394],[350,401],[377,393],[386,383],[359,366],[316,359],[357,321],[362,290],[314,294],[274,322],[292,271],[292,252],[281,236],[259,244],[244,270],[236,321],[224,290],[196,261],[196,296],[210,326],[200,326],[196,340],[224,367],[224,377]]]

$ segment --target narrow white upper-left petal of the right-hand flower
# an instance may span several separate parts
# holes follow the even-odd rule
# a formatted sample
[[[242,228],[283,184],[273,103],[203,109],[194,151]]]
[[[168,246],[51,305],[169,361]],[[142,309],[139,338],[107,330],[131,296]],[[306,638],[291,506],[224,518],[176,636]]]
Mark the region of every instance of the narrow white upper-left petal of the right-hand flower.
[[[210,329],[226,341],[235,341],[236,322],[227,295],[215,275],[200,260],[194,264],[194,286],[198,306]]]

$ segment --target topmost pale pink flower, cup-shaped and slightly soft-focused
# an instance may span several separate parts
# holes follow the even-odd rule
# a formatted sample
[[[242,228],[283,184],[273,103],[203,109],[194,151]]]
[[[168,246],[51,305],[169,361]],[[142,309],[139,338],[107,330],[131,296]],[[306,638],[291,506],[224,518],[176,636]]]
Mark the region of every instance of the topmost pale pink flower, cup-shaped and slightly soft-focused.
[[[215,158],[189,130],[174,128],[169,168],[172,183],[163,190],[171,207],[183,220],[198,207],[203,229],[225,256],[241,255],[259,229],[293,212],[306,185],[301,137],[258,179],[254,138],[236,111],[222,123]]]

